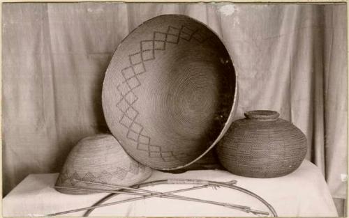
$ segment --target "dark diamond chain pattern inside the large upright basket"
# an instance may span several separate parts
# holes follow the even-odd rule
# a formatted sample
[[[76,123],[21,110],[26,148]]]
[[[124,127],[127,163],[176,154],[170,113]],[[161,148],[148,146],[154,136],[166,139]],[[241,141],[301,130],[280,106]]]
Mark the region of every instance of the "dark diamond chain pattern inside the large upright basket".
[[[119,123],[128,130],[126,138],[137,143],[136,148],[147,152],[149,157],[159,157],[164,162],[170,162],[186,154],[176,156],[172,151],[163,151],[161,146],[151,144],[151,138],[145,133],[143,125],[136,121],[140,113],[133,107],[138,100],[133,90],[141,85],[138,76],[147,72],[144,62],[156,59],[156,51],[164,51],[169,43],[177,45],[180,40],[202,43],[207,39],[198,29],[189,29],[183,25],[180,28],[168,26],[166,32],[154,31],[151,40],[140,41],[140,52],[128,55],[129,65],[121,70],[124,81],[117,86],[121,95],[117,107],[123,113]]]

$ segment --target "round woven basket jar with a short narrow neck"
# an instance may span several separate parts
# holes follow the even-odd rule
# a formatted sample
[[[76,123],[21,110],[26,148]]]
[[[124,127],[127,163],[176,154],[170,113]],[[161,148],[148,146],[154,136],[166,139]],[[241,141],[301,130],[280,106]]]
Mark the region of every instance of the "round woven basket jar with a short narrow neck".
[[[306,155],[306,137],[276,111],[248,111],[236,120],[216,147],[231,173],[274,178],[295,171]]]

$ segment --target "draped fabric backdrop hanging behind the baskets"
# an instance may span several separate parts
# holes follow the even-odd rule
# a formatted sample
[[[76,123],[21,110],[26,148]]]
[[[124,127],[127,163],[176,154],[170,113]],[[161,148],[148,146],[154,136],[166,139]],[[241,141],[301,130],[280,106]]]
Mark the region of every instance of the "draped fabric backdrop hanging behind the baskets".
[[[334,198],[346,197],[345,4],[3,3],[3,192],[60,170],[82,137],[106,132],[103,77],[121,40],[161,14],[214,29],[238,76],[235,119],[272,109],[308,139]]]

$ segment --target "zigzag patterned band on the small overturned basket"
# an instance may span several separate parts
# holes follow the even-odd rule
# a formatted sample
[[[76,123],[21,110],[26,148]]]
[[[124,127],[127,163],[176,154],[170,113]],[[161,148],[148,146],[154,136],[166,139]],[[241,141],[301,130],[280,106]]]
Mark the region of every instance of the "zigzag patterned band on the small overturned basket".
[[[140,173],[140,171],[144,170],[145,166],[139,164],[138,162],[131,162],[128,169],[117,167],[113,172],[102,171],[98,176],[95,176],[94,173],[87,172],[84,176],[80,177],[76,171],[74,171],[73,173],[68,173],[68,171],[65,169],[59,175],[59,183],[68,183],[69,186],[75,186],[77,182],[81,181],[107,183],[115,176],[119,180],[124,180],[124,178],[126,178],[127,176],[127,173],[133,173],[134,175],[137,175],[138,173]]]

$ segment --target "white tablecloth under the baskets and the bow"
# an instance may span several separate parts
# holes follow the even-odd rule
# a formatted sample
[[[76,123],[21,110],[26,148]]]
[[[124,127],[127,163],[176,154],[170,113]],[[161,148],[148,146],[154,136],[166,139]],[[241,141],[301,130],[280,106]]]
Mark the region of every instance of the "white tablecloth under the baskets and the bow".
[[[3,198],[3,216],[39,216],[93,205],[107,194],[67,195],[53,189],[58,173],[31,174],[15,189]],[[149,180],[170,178],[191,178],[216,181],[237,180],[239,187],[258,194],[270,203],[280,217],[337,217],[336,208],[329,194],[326,182],[319,169],[304,160],[295,172],[280,178],[246,178],[235,176],[228,171],[202,170],[185,173],[163,173],[154,171]],[[172,189],[182,189],[190,185],[158,185],[144,189],[166,192]],[[248,205],[256,210],[268,211],[265,205],[255,198],[236,190],[220,187],[198,189],[180,193],[211,201]],[[135,196],[117,196],[107,202],[119,201]],[[82,216],[84,212],[75,212],[62,216]],[[90,216],[119,216],[119,217],[242,217],[255,215],[239,210],[224,208],[219,205],[179,201],[166,198],[148,198],[120,205],[98,208]]]

